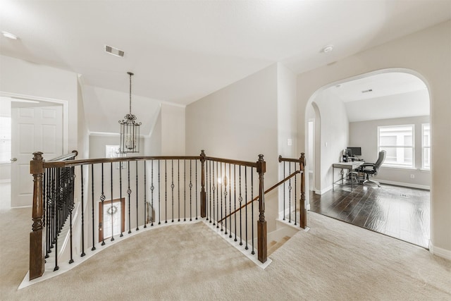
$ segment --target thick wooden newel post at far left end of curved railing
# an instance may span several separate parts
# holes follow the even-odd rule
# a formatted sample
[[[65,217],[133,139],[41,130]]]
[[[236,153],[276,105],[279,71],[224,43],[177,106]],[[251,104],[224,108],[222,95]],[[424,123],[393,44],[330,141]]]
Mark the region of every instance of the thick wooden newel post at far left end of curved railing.
[[[30,280],[44,274],[44,248],[42,245],[42,219],[44,200],[42,195],[44,161],[42,152],[34,152],[30,161],[30,173],[33,175],[32,232],[30,233]]]

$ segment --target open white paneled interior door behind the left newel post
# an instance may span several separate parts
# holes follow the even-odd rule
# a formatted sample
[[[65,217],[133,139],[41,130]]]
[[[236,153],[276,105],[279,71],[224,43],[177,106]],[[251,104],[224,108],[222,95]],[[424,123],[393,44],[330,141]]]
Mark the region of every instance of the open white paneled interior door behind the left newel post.
[[[44,159],[63,154],[63,106],[11,106],[11,207],[31,206],[33,152]]]

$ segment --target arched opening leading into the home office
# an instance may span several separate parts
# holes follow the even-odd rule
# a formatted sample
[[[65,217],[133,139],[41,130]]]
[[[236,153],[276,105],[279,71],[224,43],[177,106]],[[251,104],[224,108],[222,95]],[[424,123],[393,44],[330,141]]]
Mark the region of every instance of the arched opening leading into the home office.
[[[307,156],[315,160],[309,174],[309,180],[314,179],[310,185],[311,211],[427,248],[429,108],[425,81],[407,69],[378,70],[316,91],[305,115],[305,120],[319,129],[313,138],[306,126]],[[314,148],[309,145],[312,141]],[[349,160],[355,164],[375,163],[378,152],[386,151],[378,172],[368,176],[380,187],[362,185],[365,175],[355,174],[355,164],[349,169],[338,168],[349,148],[356,152]]]

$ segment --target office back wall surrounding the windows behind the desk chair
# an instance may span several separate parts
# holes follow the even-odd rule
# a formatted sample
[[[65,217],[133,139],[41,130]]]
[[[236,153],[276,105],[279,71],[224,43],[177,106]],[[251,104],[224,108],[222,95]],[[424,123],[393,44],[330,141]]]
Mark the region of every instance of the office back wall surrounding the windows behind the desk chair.
[[[349,146],[362,147],[362,159],[373,163],[378,158],[378,126],[413,124],[415,126],[415,168],[381,167],[376,180],[382,183],[428,189],[431,185],[431,172],[421,171],[421,124],[423,123],[429,123],[429,116],[352,122]],[[413,179],[411,175],[414,175]]]

